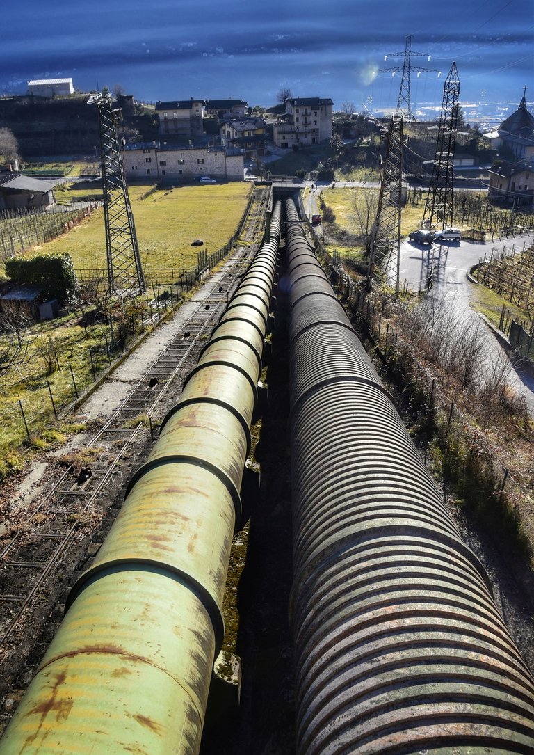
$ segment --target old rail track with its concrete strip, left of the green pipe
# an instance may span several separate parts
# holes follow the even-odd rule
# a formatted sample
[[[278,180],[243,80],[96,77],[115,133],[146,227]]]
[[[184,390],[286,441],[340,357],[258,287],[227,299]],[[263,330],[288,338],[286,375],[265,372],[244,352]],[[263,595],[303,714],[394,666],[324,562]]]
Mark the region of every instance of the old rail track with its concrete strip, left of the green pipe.
[[[149,432],[147,418],[152,427],[152,418],[161,414],[167,405],[168,394],[183,380],[187,365],[198,356],[204,339],[218,322],[222,309],[259,248],[265,214],[271,205],[269,189],[256,189],[244,234],[246,245],[239,247],[224,263],[215,284],[210,283],[201,289],[194,309],[183,320],[176,336],[80,449],[89,451],[87,458],[91,461],[87,468],[80,473],[78,467],[69,466],[58,474],[48,490],[35,498],[26,511],[25,521],[14,535],[0,546],[0,585],[11,586],[9,593],[0,587],[0,670],[6,677],[11,652],[17,651],[21,634],[29,623],[35,621],[33,609],[41,614],[44,605],[53,609],[57,597],[54,588],[59,581],[62,589],[63,581],[68,578],[66,560],[69,550],[78,547],[83,529],[81,524],[94,513],[101,516],[102,504],[109,498],[112,481],[120,478],[130,452],[133,453]],[[107,513],[112,515],[115,509],[112,506]],[[95,537],[99,538],[100,533]],[[49,627],[45,627],[44,634],[49,633]],[[36,667],[32,650],[29,661],[19,671],[12,686],[14,684],[16,689],[22,687],[24,680],[35,673]]]

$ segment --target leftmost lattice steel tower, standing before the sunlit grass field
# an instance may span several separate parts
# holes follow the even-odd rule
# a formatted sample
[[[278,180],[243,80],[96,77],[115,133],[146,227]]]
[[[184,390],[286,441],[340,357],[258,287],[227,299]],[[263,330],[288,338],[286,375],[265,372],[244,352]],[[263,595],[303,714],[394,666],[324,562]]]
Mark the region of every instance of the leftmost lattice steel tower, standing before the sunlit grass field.
[[[95,104],[99,114],[109,291],[119,296],[142,294],[145,279],[117,135],[121,111],[113,109],[110,93],[92,94],[87,103]]]

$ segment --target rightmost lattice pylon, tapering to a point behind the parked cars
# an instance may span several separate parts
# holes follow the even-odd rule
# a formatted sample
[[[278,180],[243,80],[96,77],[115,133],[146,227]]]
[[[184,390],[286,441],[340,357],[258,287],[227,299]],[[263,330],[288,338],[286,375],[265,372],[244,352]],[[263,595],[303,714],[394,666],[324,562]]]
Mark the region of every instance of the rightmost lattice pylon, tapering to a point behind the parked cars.
[[[422,227],[440,230],[453,225],[453,163],[458,128],[460,79],[456,63],[450,67],[443,86],[440,122],[437,126],[436,156],[423,213]]]

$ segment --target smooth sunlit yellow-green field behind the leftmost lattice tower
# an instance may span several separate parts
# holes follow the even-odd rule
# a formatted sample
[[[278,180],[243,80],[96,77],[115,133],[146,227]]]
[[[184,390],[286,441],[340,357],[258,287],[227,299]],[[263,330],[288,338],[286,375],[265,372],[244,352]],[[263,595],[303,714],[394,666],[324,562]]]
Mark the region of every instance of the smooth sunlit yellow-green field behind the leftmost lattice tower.
[[[147,186],[130,186],[130,202],[141,260],[146,267],[195,267],[202,239],[213,254],[232,236],[252,187],[238,181],[157,190],[146,199]],[[85,191],[85,190],[82,190]],[[70,190],[72,195],[72,190]],[[95,210],[69,233],[33,250],[68,252],[76,269],[106,267],[103,208]]]

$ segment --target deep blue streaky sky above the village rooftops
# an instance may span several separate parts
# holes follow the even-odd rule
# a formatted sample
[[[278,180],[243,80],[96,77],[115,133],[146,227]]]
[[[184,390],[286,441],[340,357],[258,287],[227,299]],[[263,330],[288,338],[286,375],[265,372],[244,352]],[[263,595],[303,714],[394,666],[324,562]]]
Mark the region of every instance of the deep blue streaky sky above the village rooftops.
[[[272,104],[281,86],[301,97],[394,105],[400,79],[376,75],[386,53],[443,71],[413,77],[413,100],[441,99],[456,60],[462,100],[534,100],[532,0],[37,0],[4,2],[0,91],[26,79],[72,76],[82,90],[121,83],[144,100],[242,97]],[[532,88],[530,88],[532,87]],[[530,95],[530,97],[529,97]],[[392,101],[391,101],[392,100]],[[390,102],[391,101],[391,102]]]

